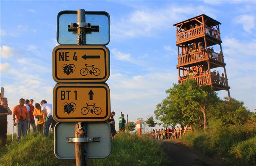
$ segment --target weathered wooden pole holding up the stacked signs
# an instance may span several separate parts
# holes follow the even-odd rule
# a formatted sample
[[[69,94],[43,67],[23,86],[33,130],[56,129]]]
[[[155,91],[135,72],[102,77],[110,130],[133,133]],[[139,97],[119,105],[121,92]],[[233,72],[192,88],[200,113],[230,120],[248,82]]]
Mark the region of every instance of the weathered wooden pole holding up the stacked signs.
[[[85,45],[85,10],[77,10],[77,45]],[[86,137],[86,123],[77,123],[75,137]],[[75,154],[76,154],[76,166],[85,166],[86,165],[86,143],[85,142],[75,142]]]

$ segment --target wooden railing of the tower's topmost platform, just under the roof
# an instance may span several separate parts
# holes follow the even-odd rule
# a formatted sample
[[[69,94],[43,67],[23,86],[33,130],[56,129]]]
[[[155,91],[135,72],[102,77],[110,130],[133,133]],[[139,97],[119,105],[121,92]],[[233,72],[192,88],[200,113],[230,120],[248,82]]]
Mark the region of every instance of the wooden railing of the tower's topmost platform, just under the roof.
[[[213,29],[208,26],[198,26],[193,29],[188,29],[186,31],[182,31],[180,33],[176,34],[177,42],[180,42],[182,40],[187,40],[189,38],[193,38],[199,35],[202,35],[202,33],[208,34],[216,39],[221,40],[220,32],[216,29]]]

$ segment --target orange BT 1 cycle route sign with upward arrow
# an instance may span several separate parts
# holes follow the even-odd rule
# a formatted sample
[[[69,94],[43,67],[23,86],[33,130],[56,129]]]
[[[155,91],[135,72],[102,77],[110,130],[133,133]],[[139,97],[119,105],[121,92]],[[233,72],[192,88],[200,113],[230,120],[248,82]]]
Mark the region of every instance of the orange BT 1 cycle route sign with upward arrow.
[[[53,118],[57,122],[106,121],[110,116],[107,84],[56,84]]]

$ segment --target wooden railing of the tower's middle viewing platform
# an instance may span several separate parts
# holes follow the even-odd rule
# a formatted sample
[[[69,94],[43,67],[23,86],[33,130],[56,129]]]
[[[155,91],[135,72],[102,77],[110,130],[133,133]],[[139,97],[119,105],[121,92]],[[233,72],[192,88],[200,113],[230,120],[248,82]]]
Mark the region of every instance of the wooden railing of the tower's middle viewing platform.
[[[204,58],[211,58],[213,60],[217,60],[218,62],[224,63],[223,55],[207,50],[207,51],[197,51],[194,53],[189,53],[186,55],[179,56],[178,65],[186,64],[189,62],[195,62],[197,60],[202,60]]]

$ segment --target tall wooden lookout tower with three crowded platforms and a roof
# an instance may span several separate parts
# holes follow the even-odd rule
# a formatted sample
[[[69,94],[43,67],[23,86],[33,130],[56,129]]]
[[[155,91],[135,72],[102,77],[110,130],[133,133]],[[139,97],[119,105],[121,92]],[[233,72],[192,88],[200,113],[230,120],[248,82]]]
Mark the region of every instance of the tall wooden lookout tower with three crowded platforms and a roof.
[[[230,87],[221,47],[220,24],[204,14],[174,24],[178,46],[176,67],[179,83],[195,79],[200,85],[212,86],[214,91],[228,91],[230,100]],[[216,71],[217,67],[221,67],[218,69],[222,72]]]

